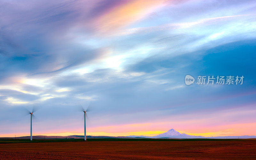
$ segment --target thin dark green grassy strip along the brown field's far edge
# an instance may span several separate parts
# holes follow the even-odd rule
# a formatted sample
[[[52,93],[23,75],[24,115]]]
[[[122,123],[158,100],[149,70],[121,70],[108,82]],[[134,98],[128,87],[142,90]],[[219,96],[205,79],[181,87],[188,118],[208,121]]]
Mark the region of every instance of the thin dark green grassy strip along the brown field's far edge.
[[[86,142],[91,141],[241,141],[247,139],[154,139],[154,138],[87,138]],[[84,139],[0,139],[0,143],[40,143],[40,142],[84,142]]]

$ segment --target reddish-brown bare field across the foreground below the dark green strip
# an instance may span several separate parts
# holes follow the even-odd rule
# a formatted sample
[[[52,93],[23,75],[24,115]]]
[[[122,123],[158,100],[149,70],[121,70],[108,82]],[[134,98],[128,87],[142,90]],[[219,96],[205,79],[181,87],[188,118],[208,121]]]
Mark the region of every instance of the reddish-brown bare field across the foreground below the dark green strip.
[[[256,140],[0,144],[0,159],[256,159]]]

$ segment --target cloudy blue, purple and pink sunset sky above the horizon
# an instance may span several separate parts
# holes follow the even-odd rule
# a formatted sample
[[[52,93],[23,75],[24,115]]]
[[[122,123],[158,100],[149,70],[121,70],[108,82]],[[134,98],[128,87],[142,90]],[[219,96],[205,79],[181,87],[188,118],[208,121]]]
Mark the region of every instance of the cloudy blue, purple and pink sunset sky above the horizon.
[[[256,135],[256,1],[0,0],[0,137]],[[186,85],[185,76],[195,78]],[[243,84],[196,84],[198,76]]]

